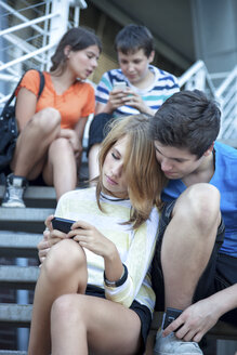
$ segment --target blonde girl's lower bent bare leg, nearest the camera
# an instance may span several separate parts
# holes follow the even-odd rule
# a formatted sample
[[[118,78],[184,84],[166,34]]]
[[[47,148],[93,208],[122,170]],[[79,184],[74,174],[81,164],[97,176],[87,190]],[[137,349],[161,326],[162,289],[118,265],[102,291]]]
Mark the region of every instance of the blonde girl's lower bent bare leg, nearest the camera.
[[[52,355],[130,355],[141,346],[141,320],[113,301],[65,294],[51,312]]]

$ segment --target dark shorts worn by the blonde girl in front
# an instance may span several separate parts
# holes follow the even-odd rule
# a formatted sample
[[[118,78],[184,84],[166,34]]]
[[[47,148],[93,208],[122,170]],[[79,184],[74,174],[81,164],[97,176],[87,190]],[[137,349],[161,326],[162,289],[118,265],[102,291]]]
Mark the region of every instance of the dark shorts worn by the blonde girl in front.
[[[105,291],[102,288],[93,285],[88,285],[85,294],[105,299]],[[147,306],[139,303],[137,301],[132,302],[130,310],[134,311],[141,320],[142,346],[137,355],[143,355],[146,349],[146,339],[152,324],[152,314]]]

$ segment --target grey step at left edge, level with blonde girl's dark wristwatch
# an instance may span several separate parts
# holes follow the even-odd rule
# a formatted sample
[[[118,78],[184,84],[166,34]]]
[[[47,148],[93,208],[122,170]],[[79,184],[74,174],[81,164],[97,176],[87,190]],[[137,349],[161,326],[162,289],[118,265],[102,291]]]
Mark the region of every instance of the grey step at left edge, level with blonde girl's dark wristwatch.
[[[28,290],[35,289],[39,277],[38,266],[0,265],[0,285]]]

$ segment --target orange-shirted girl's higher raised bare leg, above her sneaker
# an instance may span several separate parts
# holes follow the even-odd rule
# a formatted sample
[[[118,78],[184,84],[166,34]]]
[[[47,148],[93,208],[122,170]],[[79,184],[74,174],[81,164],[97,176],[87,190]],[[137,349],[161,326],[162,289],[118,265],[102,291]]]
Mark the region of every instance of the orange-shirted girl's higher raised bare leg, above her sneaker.
[[[54,108],[44,108],[34,115],[21,132],[11,169],[15,175],[36,179],[42,170],[50,144],[61,130],[61,115]]]

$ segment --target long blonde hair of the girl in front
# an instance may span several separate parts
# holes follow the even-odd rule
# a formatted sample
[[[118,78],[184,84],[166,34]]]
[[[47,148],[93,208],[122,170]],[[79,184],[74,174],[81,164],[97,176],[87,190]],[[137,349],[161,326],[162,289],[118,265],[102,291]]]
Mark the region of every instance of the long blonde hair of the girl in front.
[[[153,141],[148,135],[149,118],[145,115],[127,116],[116,118],[110,124],[107,136],[100,150],[100,176],[96,187],[96,198],[100,209],[100,195],[104,189],[102,184],[102,168],[110,148],[123,136],[128,137],[123,169],[128,183],[128,197],[132,209],[128,224],[133,228],[141,226],[150,214],[154,205],[161,208],[161,190],[166,184],[166,178],[156,160]]]

